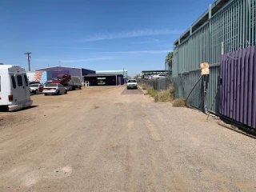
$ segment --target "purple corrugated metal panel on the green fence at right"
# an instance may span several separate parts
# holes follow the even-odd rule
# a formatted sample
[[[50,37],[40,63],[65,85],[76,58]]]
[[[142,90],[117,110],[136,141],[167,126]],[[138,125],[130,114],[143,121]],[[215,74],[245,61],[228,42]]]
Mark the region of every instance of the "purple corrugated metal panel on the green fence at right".
[[[256,47],[222,55],[220,113],[256,128]]]

